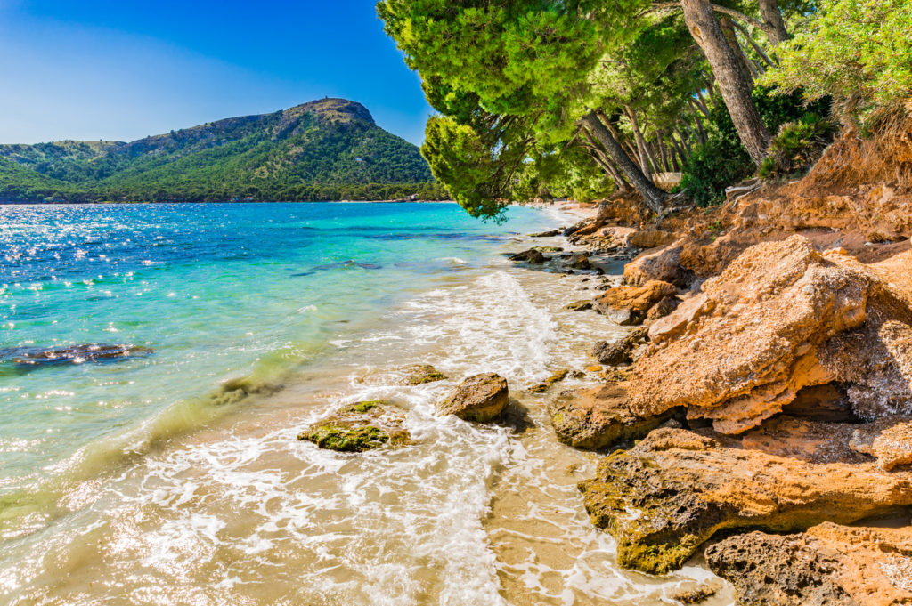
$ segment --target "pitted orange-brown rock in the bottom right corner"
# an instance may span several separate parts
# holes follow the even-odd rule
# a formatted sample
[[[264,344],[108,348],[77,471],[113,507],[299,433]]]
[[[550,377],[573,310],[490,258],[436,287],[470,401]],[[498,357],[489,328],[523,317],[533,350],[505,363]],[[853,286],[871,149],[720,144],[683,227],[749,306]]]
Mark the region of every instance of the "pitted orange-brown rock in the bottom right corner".
[[[738,606],[894,606],[912,603],[912,529],[824,523],[802,534],[751,532],[706,550]]]

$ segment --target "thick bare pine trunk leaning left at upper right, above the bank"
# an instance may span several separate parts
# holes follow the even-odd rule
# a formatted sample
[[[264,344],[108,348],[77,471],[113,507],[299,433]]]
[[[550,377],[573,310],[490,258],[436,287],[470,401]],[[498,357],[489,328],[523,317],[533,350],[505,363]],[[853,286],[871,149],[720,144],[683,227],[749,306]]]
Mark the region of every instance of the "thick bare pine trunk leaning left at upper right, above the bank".
[[[739,57],[726,41],[708,0],[681,0],[681,7],[690,34],[710,62],[741,143],[754,164],[760,166],[771,138],[753,104],[751,82],[741,72]]]

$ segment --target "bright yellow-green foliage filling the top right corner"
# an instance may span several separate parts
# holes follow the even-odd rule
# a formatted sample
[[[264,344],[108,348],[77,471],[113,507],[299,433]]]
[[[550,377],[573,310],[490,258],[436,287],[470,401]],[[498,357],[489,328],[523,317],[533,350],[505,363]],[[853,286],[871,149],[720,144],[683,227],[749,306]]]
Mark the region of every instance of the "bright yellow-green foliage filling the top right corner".
[[[762,78],[808,98],[830,96],[845,120],[912,97],[912,3],[822,0],[819,12],[778,46],[779,67]]]

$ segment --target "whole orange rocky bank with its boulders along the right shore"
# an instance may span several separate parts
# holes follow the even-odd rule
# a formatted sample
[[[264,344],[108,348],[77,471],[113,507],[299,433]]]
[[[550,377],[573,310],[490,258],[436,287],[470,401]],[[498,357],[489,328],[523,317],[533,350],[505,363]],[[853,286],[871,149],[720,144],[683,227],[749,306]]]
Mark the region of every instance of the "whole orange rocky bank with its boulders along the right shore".
[[[648,326],[606,373],[629,419],[590,422],[581,443],[629,447],[617,425],[647,428],[580,484],[622,565],[662,573],[709,545],[739,604],[912,603],[910,169],[907,121],[712,211],[648,221],[622,200],[580,230],[604,248],[633,227],[652,247],[601,296]],[[644,313],[657,284],[680,303]],[[558,437],[592,407],[562,403]]]

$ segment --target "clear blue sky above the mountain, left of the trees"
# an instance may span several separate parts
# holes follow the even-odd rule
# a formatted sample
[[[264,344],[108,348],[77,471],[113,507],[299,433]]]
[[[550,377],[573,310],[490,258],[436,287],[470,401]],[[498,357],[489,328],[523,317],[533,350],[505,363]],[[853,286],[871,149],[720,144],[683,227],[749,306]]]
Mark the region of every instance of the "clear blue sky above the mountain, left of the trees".
[[[373,0],[0,0],[0,143],[133,140],[323,97],[420,143]]]

